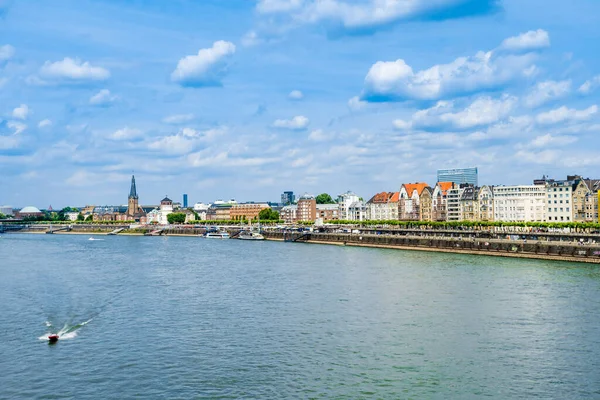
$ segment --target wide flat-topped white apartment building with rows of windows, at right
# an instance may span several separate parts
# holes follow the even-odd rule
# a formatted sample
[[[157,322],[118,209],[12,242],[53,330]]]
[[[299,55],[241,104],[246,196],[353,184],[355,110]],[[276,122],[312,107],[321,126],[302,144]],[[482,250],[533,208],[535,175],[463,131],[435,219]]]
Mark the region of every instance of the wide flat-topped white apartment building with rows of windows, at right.
[[[546,221],[546,186],[495,186],[494,220],[506,222]]]

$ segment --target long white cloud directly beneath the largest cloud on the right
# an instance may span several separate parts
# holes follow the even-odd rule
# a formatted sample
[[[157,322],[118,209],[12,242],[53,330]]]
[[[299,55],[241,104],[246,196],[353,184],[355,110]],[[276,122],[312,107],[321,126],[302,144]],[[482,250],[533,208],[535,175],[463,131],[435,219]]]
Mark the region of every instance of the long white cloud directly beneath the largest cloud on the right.
[[[415,129],[469,129],[482,125],[490,125],[510,115],[517,98],[503,96],[492,99],[483,96],[475,99],[466,108],[455,111],[452,101],[439,101],[434,107],[414,113],[411,121],[396,120],[394,127],[399,130]]]

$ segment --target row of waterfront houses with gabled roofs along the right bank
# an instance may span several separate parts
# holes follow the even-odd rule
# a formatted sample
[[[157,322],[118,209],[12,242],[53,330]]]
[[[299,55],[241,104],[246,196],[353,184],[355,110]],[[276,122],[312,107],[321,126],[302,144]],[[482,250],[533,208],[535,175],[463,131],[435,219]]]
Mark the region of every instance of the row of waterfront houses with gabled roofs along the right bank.
[[[348,192],[338,203],[316,204],[304,195],[283,207],[286,222],[297,221],[505,221],[599,222],[600,180],[543,177],[532,185],[474,186],[453,182],[406,183],[398,192],[381,192],[364,202]]]

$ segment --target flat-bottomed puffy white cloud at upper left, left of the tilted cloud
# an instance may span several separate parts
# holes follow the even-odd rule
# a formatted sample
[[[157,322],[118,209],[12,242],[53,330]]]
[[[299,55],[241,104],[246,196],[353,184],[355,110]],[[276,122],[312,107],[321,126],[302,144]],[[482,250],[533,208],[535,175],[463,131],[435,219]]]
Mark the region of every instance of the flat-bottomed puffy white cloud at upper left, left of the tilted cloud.
[[[104,81],[110,78],[110,71],[95,67],[89,62],[65,57],[62,61],[46,61],[40,68],[42,80],[64,80],[70,82]]]

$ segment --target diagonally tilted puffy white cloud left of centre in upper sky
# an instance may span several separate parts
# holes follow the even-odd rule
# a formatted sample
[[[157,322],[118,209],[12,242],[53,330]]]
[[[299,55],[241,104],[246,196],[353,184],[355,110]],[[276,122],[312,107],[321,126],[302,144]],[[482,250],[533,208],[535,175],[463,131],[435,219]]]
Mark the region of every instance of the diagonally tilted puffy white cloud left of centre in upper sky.
[[[219,40],[211,48],[201,49],[197,55],[179,60],[171,80],[182,86],[219,85],[226,72],[225,60],[235,53],[235,45]]]

